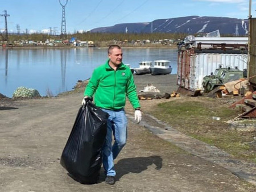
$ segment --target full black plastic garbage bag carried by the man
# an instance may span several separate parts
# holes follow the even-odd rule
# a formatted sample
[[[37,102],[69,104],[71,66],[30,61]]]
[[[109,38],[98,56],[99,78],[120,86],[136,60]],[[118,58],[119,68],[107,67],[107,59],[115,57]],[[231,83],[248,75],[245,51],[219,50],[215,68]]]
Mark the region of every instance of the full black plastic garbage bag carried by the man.
[[[82,184],[97,183],[109,114],[91,101],[82,105],[63,149],[60,164]]]

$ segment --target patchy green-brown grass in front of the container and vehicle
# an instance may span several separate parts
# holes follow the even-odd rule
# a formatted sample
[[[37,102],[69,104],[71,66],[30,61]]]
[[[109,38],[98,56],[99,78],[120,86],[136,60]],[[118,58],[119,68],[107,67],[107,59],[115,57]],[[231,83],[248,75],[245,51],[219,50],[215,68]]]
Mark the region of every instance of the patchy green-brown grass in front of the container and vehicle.
[[[241,111],[228,108],[229,105],[230,101],[221,99],[183,98],[160,103],[150,113],[186,135],[215,145],[237,158],[256,162],[256,141],[253,139],[256,132],[232,130],[226,121]],[[214,120],[213,116],[220,120]]]

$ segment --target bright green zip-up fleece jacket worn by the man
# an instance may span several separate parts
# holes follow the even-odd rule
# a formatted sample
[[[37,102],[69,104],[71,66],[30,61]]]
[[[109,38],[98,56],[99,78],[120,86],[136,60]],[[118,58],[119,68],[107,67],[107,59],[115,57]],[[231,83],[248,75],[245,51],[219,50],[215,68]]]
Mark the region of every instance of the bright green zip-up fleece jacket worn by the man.
[[[95,105],[109,110],[125,107],[126,96],[134,108],[141,107],[130,68],[121,63],[115,71],[109,66],[109,60],[94,69],[84,95],[94,95]]]

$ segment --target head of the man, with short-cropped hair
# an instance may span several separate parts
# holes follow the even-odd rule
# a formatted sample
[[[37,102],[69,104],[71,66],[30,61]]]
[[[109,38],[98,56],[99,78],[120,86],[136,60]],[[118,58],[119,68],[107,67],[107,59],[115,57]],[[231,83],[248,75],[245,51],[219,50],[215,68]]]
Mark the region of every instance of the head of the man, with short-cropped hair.
[[[110,45],[108,49],[109,64],[118,66],[121,64],[123,59],[122,48],[119,45]]]

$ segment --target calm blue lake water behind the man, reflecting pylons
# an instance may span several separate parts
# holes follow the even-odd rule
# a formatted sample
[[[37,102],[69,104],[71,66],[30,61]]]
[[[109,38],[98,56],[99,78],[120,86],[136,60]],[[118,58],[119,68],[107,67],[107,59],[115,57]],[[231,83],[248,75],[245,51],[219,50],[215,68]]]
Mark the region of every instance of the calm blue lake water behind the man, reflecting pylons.
[[[108,59],[107,48],[4,49],[0,48],[0,93],[13,97],[19,86],[40,95],[72,90]],[[167,48],[123,48],[123,63],[137,68],[139,61],[170,60],[177,73],[177,51]]]

